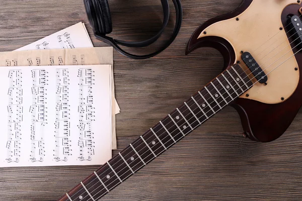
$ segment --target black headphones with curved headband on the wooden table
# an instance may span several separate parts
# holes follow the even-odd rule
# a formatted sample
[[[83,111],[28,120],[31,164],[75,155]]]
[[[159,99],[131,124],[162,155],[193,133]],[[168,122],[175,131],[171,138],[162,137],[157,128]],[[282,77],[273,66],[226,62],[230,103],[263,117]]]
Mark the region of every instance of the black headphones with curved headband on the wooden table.
[[[134,55],[123,50],[119,45],[133,48],[146,47],[153,44],[155,41],[159,39],[159,37],[164,32],[167,27],[169,17],[170,17],[170,9],[168,0],[161,0],[163,11],[164,11],[164,20],[161,30],[152,38],[145,41],[121,41],[117,39],[113,39],[111,37],[106,36],[106,34],[110,34],[112,32],[112,22],[111,22],[111,14],[109,9],[108,0],[84,0],[87,16],[89,19],[89,24],[94,31],[94,35],[98,40],[101,40],[109,45],[111,45],[114,49],[116,49],[119,53],[124,56],[127,56],[132,59],[147,59],[150,57],[154,57],[164,51],[176,38],[182,22],[182,6],[180,0],[172,0],[174,7],[176,9],[176,22],[175,28],[171,38],[165,43],[164,47],[152,54],[147,55]]]

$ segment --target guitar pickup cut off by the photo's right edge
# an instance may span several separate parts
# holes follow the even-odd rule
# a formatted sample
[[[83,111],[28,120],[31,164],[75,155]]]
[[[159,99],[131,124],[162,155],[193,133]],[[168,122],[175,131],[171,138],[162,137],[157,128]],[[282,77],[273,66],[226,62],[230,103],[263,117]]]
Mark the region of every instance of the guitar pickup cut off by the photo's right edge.
[[[302,22],[298,16],[292,16],[288,19],[289,30],[292,32],[294,42],[302,48]]]

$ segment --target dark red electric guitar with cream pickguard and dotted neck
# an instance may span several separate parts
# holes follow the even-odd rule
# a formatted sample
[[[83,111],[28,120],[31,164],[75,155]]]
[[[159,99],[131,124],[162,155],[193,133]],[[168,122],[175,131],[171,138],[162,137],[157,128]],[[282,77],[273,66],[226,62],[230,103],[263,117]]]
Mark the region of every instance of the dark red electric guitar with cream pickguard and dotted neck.
[[[246,137],[279,138],[302,104],[301,7],[296,0],[244,0],[201,25],[186,53],[214,47],[224,71],[59,200],[99,200],[229,105]]]

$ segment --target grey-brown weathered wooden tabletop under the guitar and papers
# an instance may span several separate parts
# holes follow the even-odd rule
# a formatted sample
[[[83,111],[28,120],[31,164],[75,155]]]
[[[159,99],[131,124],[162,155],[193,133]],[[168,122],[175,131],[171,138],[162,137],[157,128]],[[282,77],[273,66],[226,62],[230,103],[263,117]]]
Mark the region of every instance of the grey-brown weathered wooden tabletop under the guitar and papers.
[[[186,43],[201,23],[234,10],[240,0],[182,3],[182,29],[162,54],[134,61],[114,52],[121,114],[116,121],[118,150],[113,154],[222,68],[216,50],[199,49],[185,56]],[[110,0],[110,7],[114,37],[145,39],[161,26],[159,0]],[[0,20],[1,51],[17,49],[80,21],[86,23],[95,46],[105,45],[92,36],[82,0],[2,0]],[[173,22],[174,18],[170,30]],[[301,119],[299,112],[280,139],[261,144],[242,137],[238,114],[226,108],[101,200],[301,200]],[[0,168],[0,200],[56,200],[95,169],[97,166]]]

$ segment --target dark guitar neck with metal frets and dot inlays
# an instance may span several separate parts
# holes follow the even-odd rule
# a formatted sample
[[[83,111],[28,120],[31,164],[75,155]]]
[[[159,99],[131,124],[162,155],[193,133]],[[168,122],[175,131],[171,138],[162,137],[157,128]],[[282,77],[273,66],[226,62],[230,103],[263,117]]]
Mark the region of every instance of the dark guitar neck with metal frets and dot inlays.
[[[223,71],[59,200],[99,200],[253,86],[239,65]]]

